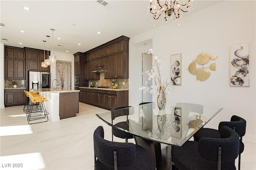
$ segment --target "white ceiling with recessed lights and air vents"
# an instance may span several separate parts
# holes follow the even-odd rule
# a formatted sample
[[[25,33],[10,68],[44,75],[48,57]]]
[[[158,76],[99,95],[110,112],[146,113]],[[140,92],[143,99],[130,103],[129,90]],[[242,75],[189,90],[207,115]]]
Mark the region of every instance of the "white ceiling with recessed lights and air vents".
[[[0,22],[5,24],[5,27],[0,27],[1,42],[14,47],[44,49],[43,40],[47,41],[46,35],[49,35],[46,49],[48,47],[51,50],[50,29],[54,28],[54,51],[74,54],[88,51],[122,35],[132,37],[154,29],[150,14],[147,14],[149,0],[107,2],[109,4],[103,6],[96,0],[0,0]],[[219,2],[221,1],[194,0],[192,12]],[[26,11],[22,6],[31,10]],[[8,41],[3,41],[2,38]]]

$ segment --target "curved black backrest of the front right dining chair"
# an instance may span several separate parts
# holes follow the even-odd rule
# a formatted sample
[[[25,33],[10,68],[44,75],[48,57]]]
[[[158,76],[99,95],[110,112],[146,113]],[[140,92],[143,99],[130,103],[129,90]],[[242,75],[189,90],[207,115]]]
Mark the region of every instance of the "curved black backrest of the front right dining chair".
[[[238,157],[239,136],[229,127],[222,127],[221,138],[202,137],[198,141],[198,152],[206,160],[218,162],[219,147],[221,148],[220,162],[232,162]]]

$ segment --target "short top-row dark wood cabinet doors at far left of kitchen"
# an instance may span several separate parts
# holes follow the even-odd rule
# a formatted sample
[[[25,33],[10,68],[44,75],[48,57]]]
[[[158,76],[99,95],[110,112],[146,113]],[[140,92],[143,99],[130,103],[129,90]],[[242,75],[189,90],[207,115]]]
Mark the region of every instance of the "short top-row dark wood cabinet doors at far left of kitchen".
[[[6,58],[25,59],[25,50],[18,47],[4,46]]]

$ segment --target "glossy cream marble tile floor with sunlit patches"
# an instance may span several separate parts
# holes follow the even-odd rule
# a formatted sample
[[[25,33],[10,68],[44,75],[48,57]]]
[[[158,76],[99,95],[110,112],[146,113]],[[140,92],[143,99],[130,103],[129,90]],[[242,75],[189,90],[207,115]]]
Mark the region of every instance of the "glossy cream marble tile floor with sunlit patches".
[[[95,116],[106,111],[79,103],[76,117],[28,125],[23,106],[0,109],[0,169],[93,170],[95,128],[103,126],[104,138],[111,140],[111,127]],[[244,143],[241,170],[256,170],[256,144]]]

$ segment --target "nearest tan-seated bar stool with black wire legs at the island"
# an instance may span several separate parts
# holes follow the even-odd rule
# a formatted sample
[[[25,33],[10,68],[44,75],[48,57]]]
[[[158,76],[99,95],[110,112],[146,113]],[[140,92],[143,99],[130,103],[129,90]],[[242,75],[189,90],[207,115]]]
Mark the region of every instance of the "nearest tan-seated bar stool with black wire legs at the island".
[[[48,112],[45,109],[44,101],[48,101],[41,95],[27,92],[30,101],[26,109],[28,124],[42,123],[48,121]],[[36,121],[39,120],[39,121]]]

